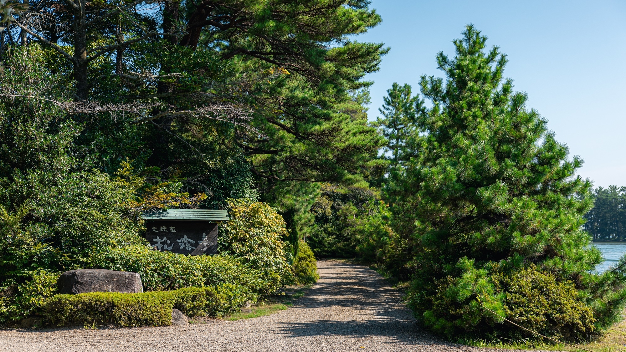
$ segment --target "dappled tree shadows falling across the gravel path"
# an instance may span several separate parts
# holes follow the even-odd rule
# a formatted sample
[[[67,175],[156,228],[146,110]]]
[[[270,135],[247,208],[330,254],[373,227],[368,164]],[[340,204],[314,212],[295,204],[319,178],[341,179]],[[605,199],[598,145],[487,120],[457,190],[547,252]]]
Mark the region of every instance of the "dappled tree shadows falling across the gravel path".
[[[346,336],[367,338],[385,336],[393,343],[421,346],[459,346],[437,338],[417,325],[404,305],[401,294],[391,288],[377,272],[365,266],[339,262],[324,263],[321,281],[300,298],[297,307],[303,309],[350,308],[367,310],[364,320],[320,319],[309,322],[280,323],[277,333],[287,337]],[[339,272],[324,273],[324,271]]]

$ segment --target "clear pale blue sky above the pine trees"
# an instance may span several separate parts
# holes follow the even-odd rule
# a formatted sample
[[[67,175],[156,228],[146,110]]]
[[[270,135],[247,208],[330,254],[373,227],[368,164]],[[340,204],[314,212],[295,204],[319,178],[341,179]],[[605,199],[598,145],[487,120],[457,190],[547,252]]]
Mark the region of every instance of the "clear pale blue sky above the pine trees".
[[[391,51],[367,76],[370,118],[393,82],[418,88],[420,75],[443,76],[439,51],[473,23],[508,54],[505,77],[529,95],[557,140],[580,155],[579,173],[595,185],[626,185],[626,1],[374,0],[382,24],[358,36]]]

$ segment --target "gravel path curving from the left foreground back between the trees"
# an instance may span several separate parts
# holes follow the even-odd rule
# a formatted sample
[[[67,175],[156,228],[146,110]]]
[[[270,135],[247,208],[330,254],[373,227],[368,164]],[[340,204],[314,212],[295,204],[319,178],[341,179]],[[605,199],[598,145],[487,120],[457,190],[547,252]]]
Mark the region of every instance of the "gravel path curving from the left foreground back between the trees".
[[[182,327],[5,329],[0,351],[479,351],[421,331],[398,291],[371,269],[317,265],[316,286],[269,316]]]

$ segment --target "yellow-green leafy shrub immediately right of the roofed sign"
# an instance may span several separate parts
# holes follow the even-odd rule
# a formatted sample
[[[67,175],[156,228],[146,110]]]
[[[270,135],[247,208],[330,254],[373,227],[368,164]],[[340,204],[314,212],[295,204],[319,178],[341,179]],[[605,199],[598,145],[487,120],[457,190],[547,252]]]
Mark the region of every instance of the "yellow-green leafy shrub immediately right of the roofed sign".
[[[246,266],[263,271],[278,282],[292,280],[292,256],[282,241],[285,221],[267,203],[228,199],[230,221],[220,226],[219,250],[240,258]]]

